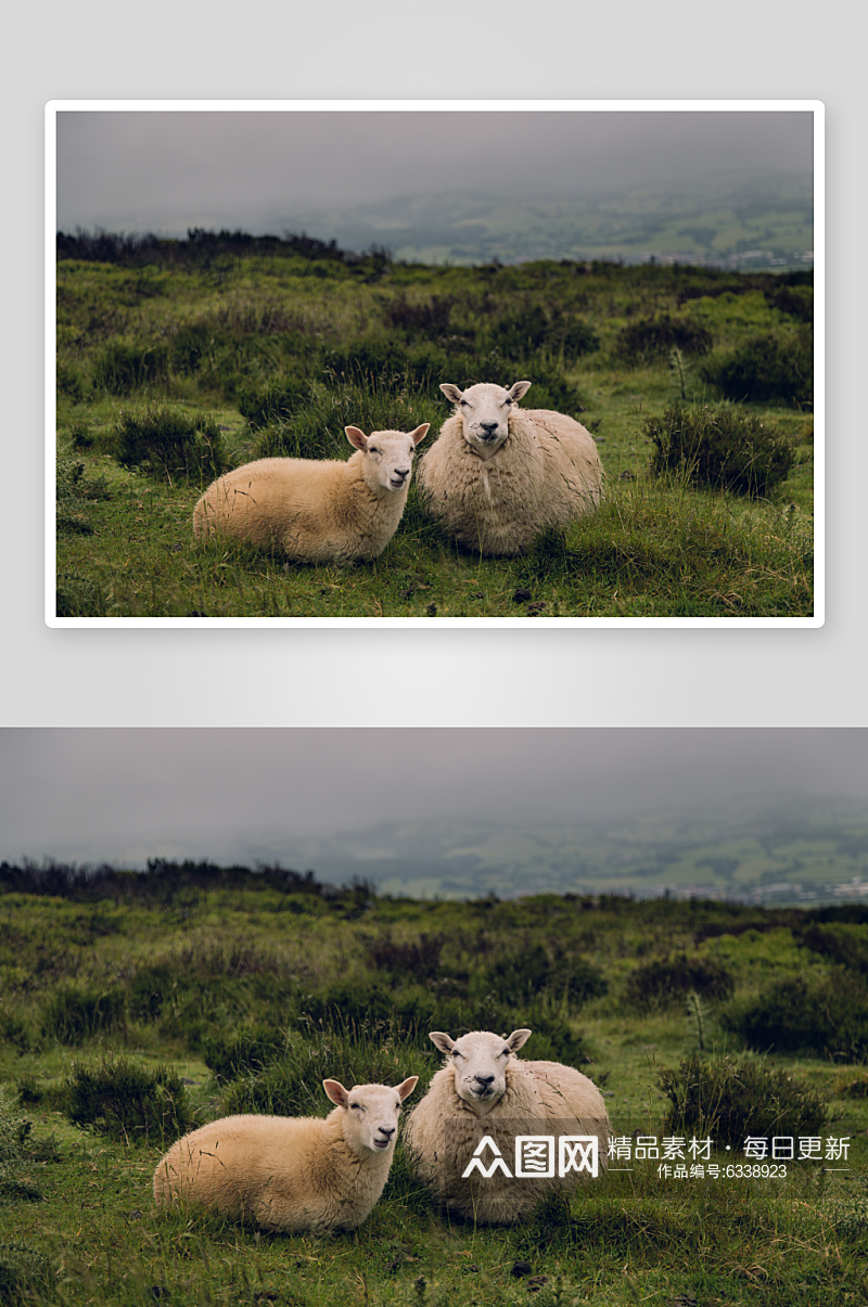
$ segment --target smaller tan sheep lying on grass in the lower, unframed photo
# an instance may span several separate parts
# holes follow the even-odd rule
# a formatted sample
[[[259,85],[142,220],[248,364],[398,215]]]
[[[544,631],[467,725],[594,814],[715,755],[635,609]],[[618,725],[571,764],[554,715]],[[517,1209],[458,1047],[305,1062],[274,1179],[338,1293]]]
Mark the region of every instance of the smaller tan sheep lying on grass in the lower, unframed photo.
[[[383,1192],[409,1076],[388,1085],[337,1080],[327,1117],[226,1116],[174,1144],[154,1172],[154,1200],[187,1199],[261,1230],[331,1234],[359,1226]]]

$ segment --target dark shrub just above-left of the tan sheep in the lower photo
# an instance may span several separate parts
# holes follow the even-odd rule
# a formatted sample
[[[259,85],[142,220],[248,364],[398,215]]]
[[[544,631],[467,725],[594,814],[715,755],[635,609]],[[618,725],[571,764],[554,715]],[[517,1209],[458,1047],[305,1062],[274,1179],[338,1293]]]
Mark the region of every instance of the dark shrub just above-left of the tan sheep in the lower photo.
[[[149,1070],[127,1059],[75,1064],[64,1084],[64,1114],[75,1125],[125,1144],[165,1145],[193,1127],[190,1095],[169,1067]]]

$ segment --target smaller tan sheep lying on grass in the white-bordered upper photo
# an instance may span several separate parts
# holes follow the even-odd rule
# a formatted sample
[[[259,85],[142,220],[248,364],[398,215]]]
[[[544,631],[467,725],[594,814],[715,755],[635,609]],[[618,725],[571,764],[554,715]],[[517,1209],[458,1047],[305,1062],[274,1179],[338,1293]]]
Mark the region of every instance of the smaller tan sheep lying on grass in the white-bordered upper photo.
[[[413,454],[429,431],[348,426],[357,452],[340,459],[259,459],[214,481],[193,510],[193,533],[276,549],[295,562],[345,563],[383,553],[404,512]]]

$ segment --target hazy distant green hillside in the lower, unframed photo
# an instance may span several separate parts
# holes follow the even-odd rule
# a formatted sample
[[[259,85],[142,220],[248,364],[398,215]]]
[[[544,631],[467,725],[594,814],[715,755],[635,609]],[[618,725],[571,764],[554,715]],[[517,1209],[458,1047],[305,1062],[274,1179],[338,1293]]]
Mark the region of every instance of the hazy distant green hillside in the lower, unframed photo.
[[[868,882],[868,814],[855,801],[800,797],[580,823],[438,817],[289,844],[288,855],[320,877],[367,876],[383,893],[417,897],[858,899],[854,880]]]

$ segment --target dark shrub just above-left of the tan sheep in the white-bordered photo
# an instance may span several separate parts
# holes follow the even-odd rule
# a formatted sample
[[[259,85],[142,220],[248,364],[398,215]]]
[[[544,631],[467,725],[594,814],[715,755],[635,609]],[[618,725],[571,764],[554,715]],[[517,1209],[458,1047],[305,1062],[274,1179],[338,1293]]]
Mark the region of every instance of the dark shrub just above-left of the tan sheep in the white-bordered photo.
[[[124,412],[115,426],[118,461],[159,480],[213,480],[229,467],[220,427],[204,413],[187,417],[171,408]]]

